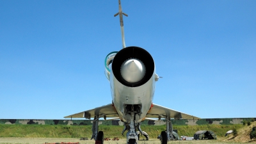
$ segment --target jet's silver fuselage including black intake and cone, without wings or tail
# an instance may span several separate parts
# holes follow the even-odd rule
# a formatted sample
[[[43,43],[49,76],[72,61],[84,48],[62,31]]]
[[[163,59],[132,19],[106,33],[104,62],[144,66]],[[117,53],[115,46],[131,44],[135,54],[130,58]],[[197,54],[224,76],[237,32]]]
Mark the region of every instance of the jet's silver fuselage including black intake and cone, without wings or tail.
[[[117,52],[112,58],[111,63],[108,63],[109,74],[106,76],[110,82],[112,102],[116,112],[123,122],[129,123],[131,120],[129,111],[134,108],[136,111],[134,122],[141,122],[152,106],[155,83],[158,79],[154,60],[145,49],[140,47],[127,47]],[[140,67],[141,69],[139,68],[137,72],[137,69],[133,68],[137,65],[129,66],[129,63],[125,63],[127,60],[131,60],[131,63],[138,60],[143,67]],[[139,66],[141,66],[140,63]],[[124,72],[123,69],[126,71]],[[138,76],[140,71],[141,76]]]

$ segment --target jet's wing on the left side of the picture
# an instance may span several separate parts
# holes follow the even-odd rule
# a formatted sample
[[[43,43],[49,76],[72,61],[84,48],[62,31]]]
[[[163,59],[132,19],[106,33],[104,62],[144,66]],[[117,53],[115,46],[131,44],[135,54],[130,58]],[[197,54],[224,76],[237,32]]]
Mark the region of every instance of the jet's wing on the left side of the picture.
[[[76,113],[74,115],[65,116],[64,118],[93,118],[95,115],[106,115],[107,117],[117,117],[115,106],[113,104],[108,104],[105,106],[100,106],[98,108],[90,109],[88,111],[82,111],[81,113]]]

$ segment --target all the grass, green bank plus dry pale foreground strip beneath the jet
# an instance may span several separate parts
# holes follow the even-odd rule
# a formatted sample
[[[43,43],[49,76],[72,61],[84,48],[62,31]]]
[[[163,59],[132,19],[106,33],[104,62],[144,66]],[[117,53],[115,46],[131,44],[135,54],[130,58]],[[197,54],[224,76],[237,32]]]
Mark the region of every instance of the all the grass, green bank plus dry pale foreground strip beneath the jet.
[[[218,140],[195,140],[195,141],[169,141],[168,143],[255,143],[256,139],[250,140],[250,131],[256,126],[256,122],[251,125],[173,125],[173,129],[178,130],[179,136],[193,136],[196,131],[213,131]],[[119,141],[104,141],[105,144],[123,144],[126,143],[125,136],[121,132],[124,129],[118,125],[99,125],[99,131],[104,131],[104,137],[120,138]],[[141,129],[148,133],[148,141],[139,141],[138,144],[158,144],[157,136],[161,131],[165,131],[165,125],[141,125]],[[225,137],[229,130],[236,129],[237,136],[230,134]],[[126,132],[125,132],[126,134]],[[125,135],[124,134],[124,135]],[[0,124],[0,144],[26,144],[26,143],[45,143],[48,141],[79,141],[81,137],[91,138],[92,125],[6,125]],[[6,142],[7,141],[7,142]],[[10,142],[12,141],[12,142]],[[36,142],[37,141],[37,142]],[[39,142],[38,142],[39,141]],[[43,141],[43,142],[42,142]],[[93,144],[95,141],[79,141],[81,144]]]

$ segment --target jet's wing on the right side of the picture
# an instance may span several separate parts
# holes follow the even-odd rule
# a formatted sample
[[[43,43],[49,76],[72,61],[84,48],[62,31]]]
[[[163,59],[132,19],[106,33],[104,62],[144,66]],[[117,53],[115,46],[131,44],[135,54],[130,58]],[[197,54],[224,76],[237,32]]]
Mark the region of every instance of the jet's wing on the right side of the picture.
[[[196,116],[188,115],[180,111],[175,111],[173,109],[165,108],[157,104],[153,104],[153,106],[148,111],[146,118],[159,118],[159,116],[161,115],[170,116],[170,118],[175,118],[175,119],[181,119],[181,118],[182,119],[200,119]]]

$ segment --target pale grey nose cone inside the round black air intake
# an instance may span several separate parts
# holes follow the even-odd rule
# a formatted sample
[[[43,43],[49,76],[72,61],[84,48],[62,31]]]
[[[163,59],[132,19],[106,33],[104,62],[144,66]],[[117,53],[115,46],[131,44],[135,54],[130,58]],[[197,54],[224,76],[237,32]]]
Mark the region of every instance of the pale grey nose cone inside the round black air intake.
[[[146,68],[144,63],[136,58],[124,61],[121,66],[121,75],[129,83],[140,81],[145,76],[145,73]]]

